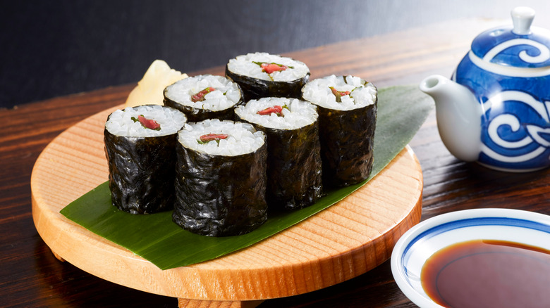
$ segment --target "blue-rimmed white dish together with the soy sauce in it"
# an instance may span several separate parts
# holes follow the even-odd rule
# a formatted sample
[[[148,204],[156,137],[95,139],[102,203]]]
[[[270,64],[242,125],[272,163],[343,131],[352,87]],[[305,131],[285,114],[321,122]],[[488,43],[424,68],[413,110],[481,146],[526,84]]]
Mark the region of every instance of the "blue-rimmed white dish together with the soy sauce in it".
[[[430,218],[391,255],[403,293],[420,307],[550,307],[550,216],[476,209]]]

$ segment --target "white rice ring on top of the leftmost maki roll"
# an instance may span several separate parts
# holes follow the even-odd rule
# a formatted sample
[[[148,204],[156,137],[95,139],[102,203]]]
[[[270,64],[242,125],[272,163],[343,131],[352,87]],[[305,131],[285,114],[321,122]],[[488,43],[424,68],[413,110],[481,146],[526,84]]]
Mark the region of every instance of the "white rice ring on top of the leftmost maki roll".
[[[138,119],[142,115],[147,120],[155,120],[160,124],[159,130],[143,127]],[[105,123],[105,128],[115,136],[152,137],[176,134],[187,122],[187,118],[180,111],[161,105],[139,105],[127,107],[111,113]]]

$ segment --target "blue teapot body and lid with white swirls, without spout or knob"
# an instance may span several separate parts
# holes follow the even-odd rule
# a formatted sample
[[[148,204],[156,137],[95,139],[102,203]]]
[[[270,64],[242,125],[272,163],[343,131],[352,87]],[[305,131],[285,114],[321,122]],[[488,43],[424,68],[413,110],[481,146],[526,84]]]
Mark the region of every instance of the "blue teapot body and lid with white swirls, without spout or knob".
[[[452,79],[482,108],[478,162],[530,171],[550,166],[550,35],[515,29],[479,34]]]

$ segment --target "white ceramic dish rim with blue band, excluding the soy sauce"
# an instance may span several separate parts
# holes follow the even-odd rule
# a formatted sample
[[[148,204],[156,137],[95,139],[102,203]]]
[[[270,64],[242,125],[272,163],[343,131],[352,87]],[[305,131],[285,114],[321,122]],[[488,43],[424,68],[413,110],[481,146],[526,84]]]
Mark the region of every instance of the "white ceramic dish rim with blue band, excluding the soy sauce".
[[[510,209],[441,214],[403,234],[391,254],[391,272],[405,296],[422,308],[442,307],[424,292],[424,262],[442,248],[468,240],[507,240],[550,250],[550,216]]]

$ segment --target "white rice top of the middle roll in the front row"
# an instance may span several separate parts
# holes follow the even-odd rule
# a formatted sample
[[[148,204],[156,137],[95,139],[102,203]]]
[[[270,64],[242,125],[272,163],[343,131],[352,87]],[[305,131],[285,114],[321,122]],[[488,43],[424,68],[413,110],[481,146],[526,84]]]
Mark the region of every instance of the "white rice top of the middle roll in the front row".
[[[271,113],[271,115],[257,114],[258,111],[271,108],[274,105],[281,107],[286,105],[287,108],[283,108],[281,112],[282,117],[275,113]],[[318,117],[317,108],[314,105],[297,98],[259,98],[248,101],[246,105],[238,106],[235,108],[235,113],[247,122],[272,129],[298,129],[314,123]]]

